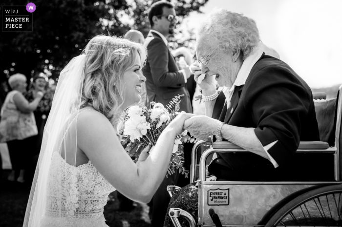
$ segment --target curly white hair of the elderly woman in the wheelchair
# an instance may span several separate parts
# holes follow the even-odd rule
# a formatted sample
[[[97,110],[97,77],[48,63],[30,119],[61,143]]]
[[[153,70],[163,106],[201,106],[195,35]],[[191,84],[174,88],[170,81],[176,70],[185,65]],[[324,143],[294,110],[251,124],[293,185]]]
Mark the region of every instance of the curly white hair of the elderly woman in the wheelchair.
[[[214,45],[228,52],[240,49],[243,60],[253,52],[260,40],[253,19],[224,9],[215,9],[200,25],[198,34],[209,35]]]

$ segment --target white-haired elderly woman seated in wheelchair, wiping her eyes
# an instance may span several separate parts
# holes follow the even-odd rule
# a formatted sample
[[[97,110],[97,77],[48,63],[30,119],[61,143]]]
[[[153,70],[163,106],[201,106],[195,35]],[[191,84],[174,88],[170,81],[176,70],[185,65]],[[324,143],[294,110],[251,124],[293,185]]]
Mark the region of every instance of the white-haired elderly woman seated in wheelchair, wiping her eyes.
[[[192,71],[206,116],[188,119],[185,129],[198,139],[214,135],[250,151],[214,154],[209,173],[217,180],[294,180],[292,172],[278,170],[291,165],[300,140],[320,140],[311,89],[285,62],[263,53],[252,19],[218,9],[198,34],[199,63]],[[191,184],[172,197],[169,207],[197,217],[197,193]],[[164,226],[172,226],[168,215]]]

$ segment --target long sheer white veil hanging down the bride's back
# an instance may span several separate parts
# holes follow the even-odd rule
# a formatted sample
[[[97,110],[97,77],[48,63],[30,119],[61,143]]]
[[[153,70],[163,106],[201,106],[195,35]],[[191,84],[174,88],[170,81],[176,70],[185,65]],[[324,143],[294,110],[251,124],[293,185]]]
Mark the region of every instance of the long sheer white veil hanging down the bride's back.
[[[52,109],[44,128],[42,148],[27,203],[23,227],[41,226],[41,219],[47,202],[47,184],[52,154],[54,151],[58,151],[61,145],[61,132],[73,120],[71,115],[80,109],[85,76],[85,56],[83,53],[74,57],[59,76]],[[77,140],[77,137],[72,139]],[[74,141],[73,144],[75,144],[76,152],[77,141]],[[61,210],[61,206],[57,203],[55,210]]]

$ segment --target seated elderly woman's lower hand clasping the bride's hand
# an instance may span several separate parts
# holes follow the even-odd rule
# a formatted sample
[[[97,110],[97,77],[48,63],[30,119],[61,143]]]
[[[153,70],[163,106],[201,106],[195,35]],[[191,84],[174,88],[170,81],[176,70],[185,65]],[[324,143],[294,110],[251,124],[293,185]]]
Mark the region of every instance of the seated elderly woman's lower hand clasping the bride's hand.
[[[221,122],[208,116],[193,116],[184,122],[183,128],[197,139],[206,139],[214,135]]]

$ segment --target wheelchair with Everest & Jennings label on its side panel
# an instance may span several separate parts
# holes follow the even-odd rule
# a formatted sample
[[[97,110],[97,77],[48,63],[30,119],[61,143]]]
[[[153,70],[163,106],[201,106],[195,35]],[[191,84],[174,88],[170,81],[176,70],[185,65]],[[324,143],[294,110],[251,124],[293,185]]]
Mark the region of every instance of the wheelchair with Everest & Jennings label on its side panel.
[[[198,226],[200,227],[273,227],[273,226],[342,226],[342,85],[334,101],[335,113],[328,122],[332,143],[300,141],[295,155],[315,156],[325,162],[318,168],[326,180],[320,181],[209,181],[206,177],[207,158],[214,152],[249,152],[228,141],[197,142],[192,149],[190,182],[198,178]],[[316,103],[324,103],[325,93],[314,93]],[[323,110],[324,112],[325,110]],[[325,119],[326,120],[326,119]],[[319,121],[319,119],[318,119]],[[320,122],[319,123],[319,128]],[[320,133],[321,128],[320,128]],[[326,133],[326,132],[324,132]],[[321,140],[325,140],[322,139]],[[203,146],[207,150],[203,151]],[[200,149],[202,148],[202,149]],[[209,148],[209,149],[208,149]],[[198,153],[202,153],[201,156]],[[317,156],[318,155],[318,156]],[[200,159],[198,160],[198,156]],[[209,159],[209,158],[208,158]],[[210,160],[210,159],[209,159]],[[310,165],[310,162],[303,165]],[[307,166],[305,168],[310,168]],[[312,168],[312,166],[311,166]],[[309,178],[308,178],[309,179]],[[314,179],[314,178],[310,178]],[[169,186],[172,197],[180,188]],[[181,227],[178,218],[185,218],[195,227],[194,217],[180,208],[170,208],[168,215],[175,227]]]

